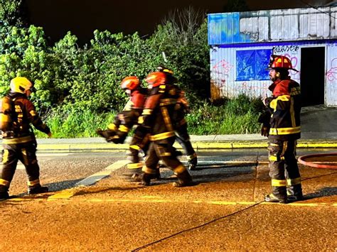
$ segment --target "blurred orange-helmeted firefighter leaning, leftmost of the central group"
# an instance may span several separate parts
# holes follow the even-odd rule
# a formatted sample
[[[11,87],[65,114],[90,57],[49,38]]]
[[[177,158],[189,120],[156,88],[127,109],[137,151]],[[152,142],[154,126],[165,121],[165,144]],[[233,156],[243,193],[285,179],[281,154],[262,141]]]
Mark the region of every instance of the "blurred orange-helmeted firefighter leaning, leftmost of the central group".
[[[107,130],[97,130],[100,136],[105,137],[108,142],[113,143],[124,143],[132,127],[137,126],[137,121],[146,99],[147,89],[141,87],[140,81],[136,76],[125,77],[121,82],[121,87],[129,95],[129,101],[124,106],[123,111],[117,114],[114,123],[109,124]],[[146,132],[146,128],[137,126],[128,152],[128,158],[131,161],[127,165],[130,177],[137,177],[137,175],[141,174],[141,168],[144,163],[141,161],[139,154],[141,151],[146,153],[148,146],[149,133]],[[158,170],[156,177],[159,178],[159,175]]]

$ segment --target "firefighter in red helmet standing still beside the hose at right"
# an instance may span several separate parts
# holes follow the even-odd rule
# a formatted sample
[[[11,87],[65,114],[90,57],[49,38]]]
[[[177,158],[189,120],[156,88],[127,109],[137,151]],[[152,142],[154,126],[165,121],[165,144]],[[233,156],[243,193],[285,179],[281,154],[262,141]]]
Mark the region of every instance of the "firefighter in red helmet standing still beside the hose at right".
[[[296,140],[301,136],[301,90],[299,83],[291,80],[289,70],[294,70],[288,57],[272,55],[269,61],[269,90],[272,97],[263,99],[270,116],[262,116],[262,136],[269,139],[269,175],[272,193],[266,202],[287,203],[303,199],[301,176],[297,165]],[[297,70],[294,70],[297,71]]]

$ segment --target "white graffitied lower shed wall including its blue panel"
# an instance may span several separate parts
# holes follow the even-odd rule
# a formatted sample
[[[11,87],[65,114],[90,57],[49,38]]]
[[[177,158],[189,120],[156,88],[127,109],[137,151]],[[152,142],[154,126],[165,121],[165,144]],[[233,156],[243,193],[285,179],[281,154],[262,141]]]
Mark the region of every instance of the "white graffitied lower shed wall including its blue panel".
[[[294,43],[269,43],[237,45],[237,47],[213,46],[210,49],[211,95],[237,97],[247,94],[252,97],[269,96],[267,62],[269,55],[285,55],[291,59],[299,72],[289,71],[291,79],[300,83],[301,48],[326,46],[325,104],[337,106],[337,43],[336,41],[306,41]],[[314,62],[313,62],[314,64]]]

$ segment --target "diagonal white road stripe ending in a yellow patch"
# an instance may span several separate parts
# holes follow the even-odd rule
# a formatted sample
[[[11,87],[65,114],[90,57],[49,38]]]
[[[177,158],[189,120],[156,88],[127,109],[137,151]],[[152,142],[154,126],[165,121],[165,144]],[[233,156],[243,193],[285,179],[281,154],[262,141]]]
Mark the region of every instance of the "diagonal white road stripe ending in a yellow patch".
[[[84,180],[81,180],[80,182],[77,182],[75,184],[76,187],[85,187],[89,185],[93,185],[96,182],[102,180],[102,178],[105,178],[110,175],[111,172],[114,170],[118,170],[122,168],[124,165],[127,165],[129,163],[129,160],[119,160],[112,165],[109,165],[107,168],[101,170],[100,172],[96,172],[93,175],[90,175],[89,177],[86,177]],[[70,199],[70,197],[73,197],[75,195],[76,190],[75,188],[70,188],[67,190],[62,190],[55,195],[51,195],[48,197],[48,200],[55,200],[55,199]]]

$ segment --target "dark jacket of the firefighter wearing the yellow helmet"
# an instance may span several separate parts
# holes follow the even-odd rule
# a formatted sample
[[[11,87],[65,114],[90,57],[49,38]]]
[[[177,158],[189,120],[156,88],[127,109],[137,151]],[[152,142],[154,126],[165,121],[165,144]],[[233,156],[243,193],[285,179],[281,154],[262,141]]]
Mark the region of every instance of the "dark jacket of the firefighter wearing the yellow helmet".
[[[11,101],[11,126],[4,131],[2,128],[3,143],[25,143],[35,141],[33,131],[31,131],[30,124],[42,131],[43,133],[50,133],[50,128],[43,124],[40,116],[36,113],[35,106],[26,97],[26,94],[17,92],[9,92],[6,98]],[[1,116],[1,119],[3,117]],[[2,122],[1,122],[2,124]],[[11,139],[16,138],[16,139]],[[6,141],[6,139],[11,139]]]

